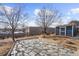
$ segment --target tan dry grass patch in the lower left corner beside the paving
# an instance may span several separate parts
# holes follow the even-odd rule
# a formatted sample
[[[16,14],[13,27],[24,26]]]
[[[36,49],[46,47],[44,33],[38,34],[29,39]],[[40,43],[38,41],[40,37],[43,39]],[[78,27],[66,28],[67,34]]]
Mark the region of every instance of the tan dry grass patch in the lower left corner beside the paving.
[[[12,42],[1,42],[0,43],[0,56],[7,55],[11,46],[12,46]]]

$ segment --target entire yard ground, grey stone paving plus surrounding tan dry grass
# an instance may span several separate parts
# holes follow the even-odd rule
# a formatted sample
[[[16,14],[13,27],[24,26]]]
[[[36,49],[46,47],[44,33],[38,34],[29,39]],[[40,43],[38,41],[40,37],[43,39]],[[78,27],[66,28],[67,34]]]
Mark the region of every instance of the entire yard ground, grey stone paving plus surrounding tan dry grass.
[[[76,56],[79,55],[79,40],[56,35],[38,35],[4,40],[0,55],[11,56]],[[1,43],[2,44],[2,43]]]

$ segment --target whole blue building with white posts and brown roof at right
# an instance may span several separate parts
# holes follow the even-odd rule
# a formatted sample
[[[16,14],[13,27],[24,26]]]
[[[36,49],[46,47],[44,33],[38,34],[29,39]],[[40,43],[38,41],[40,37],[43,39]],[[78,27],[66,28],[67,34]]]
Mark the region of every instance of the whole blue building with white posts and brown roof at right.
[[[64,35],[63,30],[61,29],[62,26],[56,27],[56,35]],[[65,35],[66,36],[79,36],[79,21],[73,20],[69,22],[67,25],[63,25],[65,28]],[[72,35],[71,35],[72,34]]]

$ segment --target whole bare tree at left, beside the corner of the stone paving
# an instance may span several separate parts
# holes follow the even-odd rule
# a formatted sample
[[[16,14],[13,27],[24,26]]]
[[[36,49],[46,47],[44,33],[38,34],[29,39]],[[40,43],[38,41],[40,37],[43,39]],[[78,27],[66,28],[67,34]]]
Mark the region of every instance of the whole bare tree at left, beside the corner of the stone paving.
[[[21,20],[27,19],[27,13],[24,13],[21,6],[17,6],[14,8],[11,8],[9,12],[5,8],[5,6],[2,6],[2,11],[0,12],[0,19],[4,24],[8,24],[11,28],[12,33],[12,39],[15,42],[15,30],[18,27],[18,24]]]

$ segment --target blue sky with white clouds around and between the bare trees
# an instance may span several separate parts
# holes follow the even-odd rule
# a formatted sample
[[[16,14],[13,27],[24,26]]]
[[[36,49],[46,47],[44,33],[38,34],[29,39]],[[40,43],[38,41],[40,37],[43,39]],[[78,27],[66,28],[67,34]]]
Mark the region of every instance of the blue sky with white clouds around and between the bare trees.
[[[15,3],[4,3],[7,7],[14,7]],[[62,23],[67,24],[71,20],[79,20],[79,3],[20,3],[25,12],[29,14],[29,26],[36,26],[35,17],[39,9],[46,7],[58,10],[62,16]]]

